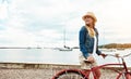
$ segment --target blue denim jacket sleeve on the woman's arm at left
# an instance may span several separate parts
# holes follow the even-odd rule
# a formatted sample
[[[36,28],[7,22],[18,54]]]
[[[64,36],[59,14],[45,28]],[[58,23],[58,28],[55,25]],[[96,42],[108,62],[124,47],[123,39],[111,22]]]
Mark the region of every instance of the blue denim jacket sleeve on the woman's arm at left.
[[[88,52],[85,47],[86,32],[87,32],[86,29],[81,28],[80,34],[79,34],[80,51],[83,53],[83,56],[85,58],[88,56]]]

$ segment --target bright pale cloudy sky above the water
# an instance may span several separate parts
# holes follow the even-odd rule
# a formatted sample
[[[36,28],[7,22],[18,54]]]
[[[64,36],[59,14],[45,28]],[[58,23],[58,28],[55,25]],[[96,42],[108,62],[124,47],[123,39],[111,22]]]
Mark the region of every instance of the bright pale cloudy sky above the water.
[[[130,0],[0,0],[0,47],[79,45],[82,16],[94,12],[99,44],[131,42]]]

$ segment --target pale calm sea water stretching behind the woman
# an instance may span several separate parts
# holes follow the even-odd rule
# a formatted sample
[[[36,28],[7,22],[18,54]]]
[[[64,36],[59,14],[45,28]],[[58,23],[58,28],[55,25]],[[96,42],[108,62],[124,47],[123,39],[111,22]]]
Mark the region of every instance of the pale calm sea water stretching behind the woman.
[[[107,50],[100,49],[103,53],[126,55],[131,53],[127,50]],[[63,64],[80,65],[80,49],[72,51],[60,51],[58,49],[0,49],[0,63],[36,63],[36,64]],[[98,65],[108,63],[120,63],[116,57],[107,56],[103,58],[94,53]],[[124,57],[128,67],[131,67],[131,55]]]

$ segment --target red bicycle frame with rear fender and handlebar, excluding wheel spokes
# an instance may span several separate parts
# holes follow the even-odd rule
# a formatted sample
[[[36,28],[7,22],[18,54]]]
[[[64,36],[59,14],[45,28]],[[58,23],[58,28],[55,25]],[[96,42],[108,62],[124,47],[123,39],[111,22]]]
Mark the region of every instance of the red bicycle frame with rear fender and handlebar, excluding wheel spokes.
[[[128,54],[128,55],[131,55],[131,53]],[[110,56],[115,56],[115,57],[121,58],[121,61],[122,61],[121,63],[104,64],[104,65],[99,65],[99,66],[96,66],[96,67],[91,67],[91,69],[86,69],[86,70],[82,70],[82,69],[63,69],[63,70],[59,71],[52,79],[57,79],[57,77],[59,77],[60,75],[63,75],[63,74],[67,74],[67,73],[71,73],[71,71],[81,75],[84,79],[88,79],[90,73],[92,71],[94,79],[98,79],[95,76],[95,70],[96,69],[100,69],[100,68],[105,68],[105,67],[107,69],[114,70],[115,73],[118,74],[116,79],[119,79],[121,76],[122,77],[124,76],[123,79],[131,79],[131,73],[128,70],[127,64],[126,64],[126,62],[123,60],[123,57],[126,57],[128,55],[124,55],[124,56],[110,55]],[[107,66],[111,66],[111,67],[107,67]],[[114,66],[120,66],[122,70],[115,69]],[[88,73],[86,74],[85,71],[88,71]]]

